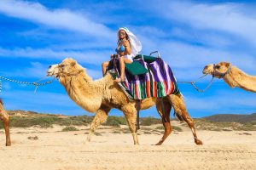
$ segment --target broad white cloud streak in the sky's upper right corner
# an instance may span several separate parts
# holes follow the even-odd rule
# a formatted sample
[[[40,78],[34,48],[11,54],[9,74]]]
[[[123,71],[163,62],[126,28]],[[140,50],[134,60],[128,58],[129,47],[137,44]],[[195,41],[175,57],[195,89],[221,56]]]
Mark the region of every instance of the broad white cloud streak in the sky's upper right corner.
[[[161,5],[156,6],[163,8]],[[158,14],[199,31],[224,31],[256,44],[256,15],[241,3],[168,2]]]

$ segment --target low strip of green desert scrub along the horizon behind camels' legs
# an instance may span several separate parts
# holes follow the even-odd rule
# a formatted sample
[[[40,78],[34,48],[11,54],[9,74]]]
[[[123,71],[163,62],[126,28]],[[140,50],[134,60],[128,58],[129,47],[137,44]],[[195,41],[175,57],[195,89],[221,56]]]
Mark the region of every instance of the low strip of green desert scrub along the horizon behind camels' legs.
[[[10,127],[53,127],[53,125],[66,126],[67,131],[72,130],[74,126],[86,126],[92,122],[94,116],[62,116],[39,114],[33,111],[8,111],[11,116]],[[194,119],[195,128],[201,130],[212,131],[255,131],[256,130],[256,113],[251,115],[215,115],[209,116],[206,119]],[[224,122],[229,120],[229,122]],[[239,122],[230,121],[239,120]],[[154,117],[140,118],[141,126],[150,126],[154,124],[161,124],[161,120]],[[124,116],[108,116],[107,122],[103,123],[104,126],[120,127],[120,125],[127,125]],[[188,127],[187,123],[183,123],[184,127]],[[71,128],[70,128],[71,127]],[[3,128],[3,123],[0,122],[0,129]],[[69,129],[70,128],[70,129]],[[104,127],[105,128],[105,127]],[[172,126],[172,129],[181,132],[181,127]],[[149,127],[142,127],[143,131],[154,132],[154,130],[164,130],[163,126],[156,127],[155,129]],[[117,133],[117,132],[115,132]],[[131,133],[129,128],[120,128],[120,133]]]

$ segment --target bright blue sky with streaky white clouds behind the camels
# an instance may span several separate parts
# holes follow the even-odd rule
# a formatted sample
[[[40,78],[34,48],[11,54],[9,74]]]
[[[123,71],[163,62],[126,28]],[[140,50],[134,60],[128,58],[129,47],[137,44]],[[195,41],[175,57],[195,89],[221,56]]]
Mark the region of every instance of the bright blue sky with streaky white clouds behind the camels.
[[[253,2],[253,1],[252,1]],[[1,0],[0,76],[34,82],[49,65],[73,57],[94,79],[114,53],[116,31],[128,27],[143,43],[143,54],[159,50],[177,81],[201,77],[207,64],[229,61],[256,74],[256,3],[251,1]],[[207,86],[211,77],[197,85]],[[249,114],[256,95],[215,80],[206,93],[179,84],[189,114]],[[61,84],[38,88],[3,81],[7,110],[92,115],[75,105]],[[122,116],[113,110],[110,115]],[[158,116],[155,108],[142,116]]]

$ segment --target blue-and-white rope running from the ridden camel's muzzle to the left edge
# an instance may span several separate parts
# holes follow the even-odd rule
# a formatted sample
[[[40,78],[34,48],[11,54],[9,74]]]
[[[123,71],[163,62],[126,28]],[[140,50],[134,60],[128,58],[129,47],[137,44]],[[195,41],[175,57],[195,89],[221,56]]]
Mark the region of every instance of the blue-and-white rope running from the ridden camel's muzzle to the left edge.
[[[37,92],[37,89],[38,89],[38,86],[44,86],[46,84],[50,84],[52,82],[55,81],[55,78],[53,78],[52,80],[48,81],[48,82],[42,82],[42,83],[38,83],[46,78],[43,78],[43,79],[40,79],[36,82],[21,82],[21,81],[17,81],[17,80],[14,80],[14,79],[9,79],[9,78],[6,78],[6,77],[0,77],[0,93],[2,92],[2,80],[6,80],[6,81],[9,81],[9,82],[15,82],[15,83],[18,83],[18,84],[26,84],[26,85],[32,85],[32,86],[35,86],[35,90],[34,90],[34,93]]]

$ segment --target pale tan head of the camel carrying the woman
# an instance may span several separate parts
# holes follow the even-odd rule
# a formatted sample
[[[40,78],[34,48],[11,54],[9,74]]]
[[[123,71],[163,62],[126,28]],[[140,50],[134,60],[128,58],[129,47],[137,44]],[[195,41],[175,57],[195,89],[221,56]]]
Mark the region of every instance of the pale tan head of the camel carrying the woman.
[[[63,59],[60,64],[49,65],[47,76],[54,76],[56,78],[76,76],[83,72],[84,68],[72,58]]]

